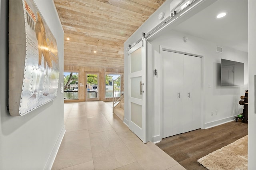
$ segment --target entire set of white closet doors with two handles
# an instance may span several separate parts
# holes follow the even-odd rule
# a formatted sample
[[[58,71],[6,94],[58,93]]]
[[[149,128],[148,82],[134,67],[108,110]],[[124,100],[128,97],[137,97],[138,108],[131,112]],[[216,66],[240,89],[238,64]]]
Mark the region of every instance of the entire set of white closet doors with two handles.
[[[201,127],[201,58],[161,51],[162,138]]]

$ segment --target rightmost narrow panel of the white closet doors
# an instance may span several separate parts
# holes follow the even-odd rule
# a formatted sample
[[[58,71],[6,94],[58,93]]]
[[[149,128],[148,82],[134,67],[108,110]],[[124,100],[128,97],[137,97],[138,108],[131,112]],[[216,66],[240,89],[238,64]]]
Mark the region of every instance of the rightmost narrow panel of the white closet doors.
[[[201,106],[202,106],[202,58],[193,59],[193,125],[194,129],[201,128]]]

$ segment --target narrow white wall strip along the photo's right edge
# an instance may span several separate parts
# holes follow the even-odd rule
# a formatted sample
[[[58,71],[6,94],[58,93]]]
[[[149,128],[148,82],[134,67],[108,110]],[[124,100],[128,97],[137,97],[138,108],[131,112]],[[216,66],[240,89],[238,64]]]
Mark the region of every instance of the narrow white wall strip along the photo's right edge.
[[[249,43],[249,105],[248,105],[248,170],[256,169],[256,114],[255,107],[255,89],[254,75],[256,75],[256,1],[248,1],[248,43]]]

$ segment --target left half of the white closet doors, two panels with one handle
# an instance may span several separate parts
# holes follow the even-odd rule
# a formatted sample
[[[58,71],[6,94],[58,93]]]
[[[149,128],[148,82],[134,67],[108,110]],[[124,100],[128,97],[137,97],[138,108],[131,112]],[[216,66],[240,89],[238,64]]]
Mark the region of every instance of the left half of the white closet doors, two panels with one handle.
[[[183,132],[183,54],[162,51],[162,138]]]

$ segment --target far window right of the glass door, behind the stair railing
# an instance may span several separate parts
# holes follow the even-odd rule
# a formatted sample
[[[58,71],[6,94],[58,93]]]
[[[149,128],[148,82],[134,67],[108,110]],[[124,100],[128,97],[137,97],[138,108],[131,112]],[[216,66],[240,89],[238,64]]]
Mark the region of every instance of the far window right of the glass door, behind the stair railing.
[[[121,85],[121,75],[117,74],[106,74],[106,94],[105,97],[120,97],[120,85]]]

